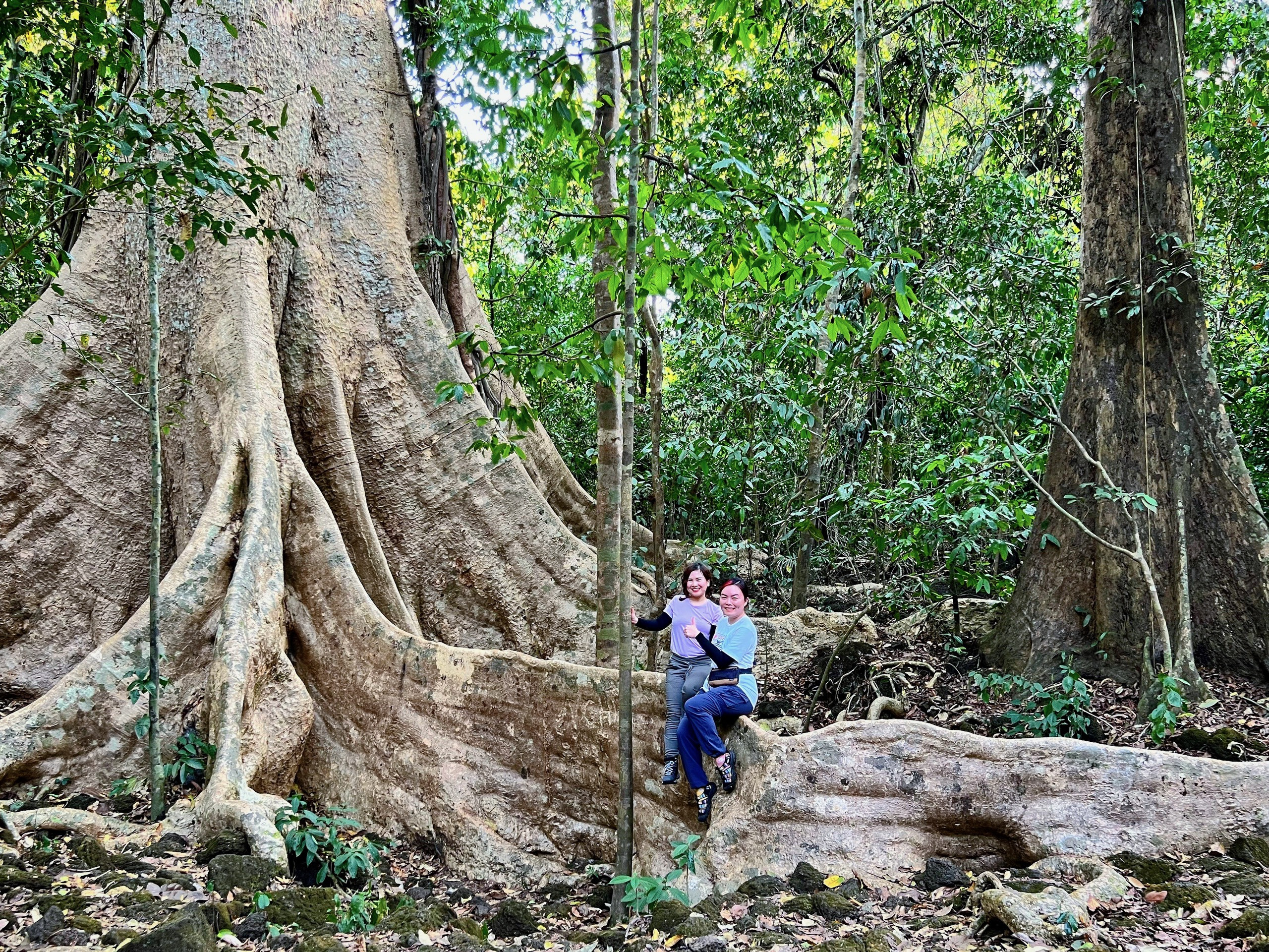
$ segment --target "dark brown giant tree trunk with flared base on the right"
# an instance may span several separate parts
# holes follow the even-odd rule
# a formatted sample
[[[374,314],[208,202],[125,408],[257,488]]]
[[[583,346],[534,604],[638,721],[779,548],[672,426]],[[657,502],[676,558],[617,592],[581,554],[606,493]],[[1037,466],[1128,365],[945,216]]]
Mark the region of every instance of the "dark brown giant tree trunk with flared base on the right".
[[[1142,517],[1142,533],[1174,632],[1183,628],[1184,597],[1175,490],[1187,496],[1198,658],[1264,679],[1269,532],[1217,388],[1190,258],[1185,10],[1181,0],[1146,0],[1133,24],[1132,8],[1096,0],[1089,20],[1089,50],[1105,58],[1084,103],[1081,303],[1061,416],[1122,487],[1159,500],[1157,514]],[[1140,312],[1138,283],[1146,288]],[[1081,485],[1094,480],[1055,426],[1044,487],[1057,500],[1086,498]],[[1081,501],[1075,512],[1132,547],[1131,526],[1112,504]],[[1044,534],[1061,547],[1042,547]],[[1084,613],[1091,613],[1088,626]],[[1138,567],[1042,501],[1018,588],[985,649],[995,664],[1037,675],[1070,651],[1081,671],[1132,683],[1151,625]]]

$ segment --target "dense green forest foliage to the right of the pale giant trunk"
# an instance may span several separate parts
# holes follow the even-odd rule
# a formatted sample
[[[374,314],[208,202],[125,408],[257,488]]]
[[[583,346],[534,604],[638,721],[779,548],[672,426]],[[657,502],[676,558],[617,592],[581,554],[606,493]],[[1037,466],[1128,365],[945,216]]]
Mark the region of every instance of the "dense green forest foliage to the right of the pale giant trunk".
[[[594,490],[595,406],[579,363],[595,349],[576,334],[593,317],[600,227],[577,217],[591,162],[581,11],[439,10],[434,61],[466,66],[439,67],[462,258],[504,345],[532,354],[520,367],[532,401]],[[1269,23],[1241,0],[1190,10],[1193,251],[1221,392],[1264,493]],[[849,3],[661,3],[640,287],[665,340],[666,533],[749,541],[787,580],[812,522],[817,579],[884,581],[896,616],[953,585],[1008,598],[1036,491],[987,418],[1006,419],[1014,449],[1043,471],[1048,425],[1019,407],[1037,392],[1060,400],[1071,360],[1081,99],[1096,81],[1086,14],[869,6],[862,187],[844,221],[851,14]],[[816,372],[834,260],[849,265],[844,306]],[[816,395],[824,501],[808,509]],[[651,524],[647,425],[641,401],[634,508]],[[1051,529],[1055,545],[1063,532]]]

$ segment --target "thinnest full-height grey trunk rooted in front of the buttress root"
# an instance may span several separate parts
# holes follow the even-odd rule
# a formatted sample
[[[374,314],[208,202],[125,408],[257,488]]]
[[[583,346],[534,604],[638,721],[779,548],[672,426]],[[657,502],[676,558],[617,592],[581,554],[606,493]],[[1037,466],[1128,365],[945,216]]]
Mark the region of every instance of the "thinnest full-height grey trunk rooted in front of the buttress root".
[[[631,4],[631,70],[629,98],[627,109],[627,128],[629,129],[629,160],[626,187],[626,268],[622,326],[626,331],[626,380],[623,381],[622,405],[622,588],[621,588],[621,658],[619,658],[619,697],[618,697],[618,802],[617,802],[617,875],[629,876],[634,862],[634,740],[633,715],[631,711],[631,682],[634,669],[632,651],[633,631],[631,625],[631,605],[634,604],[631,593],[631,569],[634,559],[634,350],[636,314],[634,282],[638,261],[638,183],[640,183],[640,19],[643,17],[642,4]],[[613,887],[613,902],[609,918],[621,922],[624,918],[622,886]]]

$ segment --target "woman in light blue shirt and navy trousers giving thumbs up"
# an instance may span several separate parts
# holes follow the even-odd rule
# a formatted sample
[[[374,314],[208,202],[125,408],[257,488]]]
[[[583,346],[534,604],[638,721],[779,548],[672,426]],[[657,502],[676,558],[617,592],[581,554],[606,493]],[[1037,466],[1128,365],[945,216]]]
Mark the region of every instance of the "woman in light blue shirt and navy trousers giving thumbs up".
[[[747,605],[749,584],[742,579],[728,579],[718,595],[723,619],[714,630],[713,641],[695,626],[684,631],[714,663],[708,688],[683,706],[683,720],[679,721],[679,758],[688,784],[697,796],[697,819],[704,824],[709,823],[718,788],[706,777],[700,765],[702,751],[714,759],[722,774],[723,791],[731,793],[736,790],[736,762],[718,736],[714,718],[751,713],[758,703],[758,680],[754,678],[758,628],[745,614]]]

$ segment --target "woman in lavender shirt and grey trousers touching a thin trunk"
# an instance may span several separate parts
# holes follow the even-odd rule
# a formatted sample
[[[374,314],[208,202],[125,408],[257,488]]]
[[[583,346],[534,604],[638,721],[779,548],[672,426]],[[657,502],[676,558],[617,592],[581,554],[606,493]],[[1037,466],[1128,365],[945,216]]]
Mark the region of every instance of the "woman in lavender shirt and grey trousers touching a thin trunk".
[[[722,621],[722,609],[709,600],[711,581],[713,572],[709,566],[690,562],[683,570],[680,594],[670,599],[660,616],[640,618],[631,609],[631,621],[645,631],[661,631],[670,626],[670,666],[665,671],[665,769],[661,783],[679,781],[679,720],[683,717],[683,704],[700,691],[713,666],[704,649],[684,633],[688,626],[693,626],[695,631],[711,632]]]

